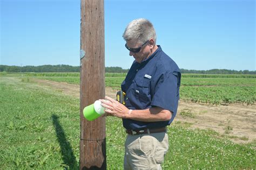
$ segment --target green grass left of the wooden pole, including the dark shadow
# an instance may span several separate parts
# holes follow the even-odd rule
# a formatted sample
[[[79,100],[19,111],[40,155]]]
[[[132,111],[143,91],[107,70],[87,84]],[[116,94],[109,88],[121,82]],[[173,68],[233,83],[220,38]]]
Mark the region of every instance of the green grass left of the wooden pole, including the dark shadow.
[[[76,166],[78,99],[19,82],[2,82],[0,91],[1,169]]]

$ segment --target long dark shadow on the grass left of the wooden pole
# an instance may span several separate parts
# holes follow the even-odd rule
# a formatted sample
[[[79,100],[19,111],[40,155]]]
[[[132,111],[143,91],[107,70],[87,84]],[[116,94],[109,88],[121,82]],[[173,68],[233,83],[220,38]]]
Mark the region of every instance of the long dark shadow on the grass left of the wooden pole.
[[[69,169],[78,169],[76,157],[73,153],[70,142],[66,140],[66,135],[62,126],[59,124],[58,116],[52,114],[51,118],[53,126],[55,127],[56,137],[58,138],[64,164],[69,166]]]

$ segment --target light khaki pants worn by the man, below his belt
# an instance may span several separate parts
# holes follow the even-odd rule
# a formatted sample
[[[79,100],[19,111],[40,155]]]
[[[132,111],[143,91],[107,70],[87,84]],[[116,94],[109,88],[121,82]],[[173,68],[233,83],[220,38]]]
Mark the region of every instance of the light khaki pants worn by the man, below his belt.
[[[165,132],[128,134],[125,140],[124,169],[161,169],[169,147]]]

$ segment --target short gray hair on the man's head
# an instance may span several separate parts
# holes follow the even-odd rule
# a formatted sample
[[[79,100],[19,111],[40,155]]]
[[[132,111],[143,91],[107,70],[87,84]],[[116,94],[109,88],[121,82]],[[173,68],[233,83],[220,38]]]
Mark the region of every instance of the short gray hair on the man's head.
[[[145,43],[150,38],[154,39],[156,43],[157,35],[156,30],[154,30],[153,24],[145,19],[139,18],[131,21],[123,33],[124,40],[138,39],[139,43]]]

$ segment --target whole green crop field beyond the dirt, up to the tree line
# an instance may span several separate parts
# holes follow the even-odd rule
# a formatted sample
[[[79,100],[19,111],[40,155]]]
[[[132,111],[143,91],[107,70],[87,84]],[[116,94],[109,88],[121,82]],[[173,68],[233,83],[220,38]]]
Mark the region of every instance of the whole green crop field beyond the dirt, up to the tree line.
[[[115,90],[125,78],[125,73],[106,73],[105,86]],[[36,77],[70,84],[80,83],[79,73],[27,73]],[[230,104],[256,102],[256,75],[183,74],[180,98],[185,101],[206,104]]]

